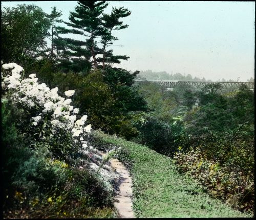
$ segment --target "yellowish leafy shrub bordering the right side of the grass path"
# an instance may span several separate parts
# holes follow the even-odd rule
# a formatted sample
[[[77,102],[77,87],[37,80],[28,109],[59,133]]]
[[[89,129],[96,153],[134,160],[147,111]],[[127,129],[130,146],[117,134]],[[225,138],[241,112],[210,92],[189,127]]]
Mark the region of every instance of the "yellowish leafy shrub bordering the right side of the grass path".
[[[174,161],[179,170],[197,179],[210,194],[238,210],[253,211],[254,175],[227,163],[220,165],[207,160],[200,150],[188,153],[177,152]]]

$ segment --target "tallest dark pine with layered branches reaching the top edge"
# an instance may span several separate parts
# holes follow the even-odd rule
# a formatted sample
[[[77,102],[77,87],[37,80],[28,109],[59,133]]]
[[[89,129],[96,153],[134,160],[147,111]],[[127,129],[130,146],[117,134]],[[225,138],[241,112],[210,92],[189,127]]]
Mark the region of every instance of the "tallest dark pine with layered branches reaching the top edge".
[[[79,1],[78,6],[75,8],[75,12],[70,12],[70,22],[65,22],[66,25],[73,29],[66,29],[59,27],[59,33],[67,34],[73,33],[83,37],[84,40],[74,40],[69,38],[60,38],[60,40],[66,42],[66,54],[76,57],[75,59],[90,60],[92,58],[92,64],[94,68],[97,68],[97,41],[96,38],[102,35],[102,21],[100,15],[103,10],[108,6],[105,1]],[[62,44],[65,46],[64,44]],[[71,52],[71,51],[74,52]],[[74,59],[74,58],[73,58]]]

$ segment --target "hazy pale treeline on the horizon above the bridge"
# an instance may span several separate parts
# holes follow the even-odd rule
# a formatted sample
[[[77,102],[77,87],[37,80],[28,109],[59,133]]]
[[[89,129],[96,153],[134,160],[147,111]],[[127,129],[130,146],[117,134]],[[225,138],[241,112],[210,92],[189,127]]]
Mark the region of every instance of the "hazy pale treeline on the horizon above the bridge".
[[[151,69],[148,69],[146,71],[140,71],[140,73],[137,75],[137,78],[140,79],[147,79],[147,80],[180,80],[180,81],[209,81],[211,82],[212,80],[206,80],[204,77],[202,79],[198,77],[192,77],[190,74],[187,75],[182,75],[179,72],[176,74],[168,74],[166,71],[161,71],[161,72],[153,72]],[[236,80],[226,80],[226,79],[221,79],[218,80],[221,82],[237,82]],[[239,81],[239,79],[238,79]],[[254,82],[254,79],[251,77],[248,82]]]

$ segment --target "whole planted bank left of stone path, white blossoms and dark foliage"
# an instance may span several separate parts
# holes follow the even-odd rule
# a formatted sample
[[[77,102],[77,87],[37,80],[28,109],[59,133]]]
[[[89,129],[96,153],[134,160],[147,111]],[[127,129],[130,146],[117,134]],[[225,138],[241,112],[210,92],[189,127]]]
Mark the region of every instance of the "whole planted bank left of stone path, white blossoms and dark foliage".
[[[4,217],[116,216],[116,176],[85,141],[87,115],[76,119],[71,99],[34,74],[24,79],[21,66],[2,67]]]

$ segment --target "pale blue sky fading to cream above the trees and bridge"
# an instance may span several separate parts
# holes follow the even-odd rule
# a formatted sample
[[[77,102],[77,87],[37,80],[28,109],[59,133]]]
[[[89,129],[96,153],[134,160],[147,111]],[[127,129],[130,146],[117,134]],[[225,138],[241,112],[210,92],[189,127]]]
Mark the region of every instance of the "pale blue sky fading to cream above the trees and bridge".
[[[127,55],[120,68],[180,72],[206,80],[254,78],[254,2],[107,1],[132,13],[121,19],[129,25],[114,36],[114,55]],[[3,7],[34,4],[46,13],[56,6],[69,21],[76,1],[2,2]],[[70,35],[72,36],[72,35]],[[76,36],[75,39],[80,39]]]

